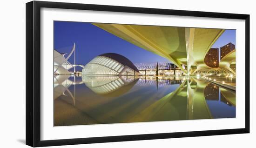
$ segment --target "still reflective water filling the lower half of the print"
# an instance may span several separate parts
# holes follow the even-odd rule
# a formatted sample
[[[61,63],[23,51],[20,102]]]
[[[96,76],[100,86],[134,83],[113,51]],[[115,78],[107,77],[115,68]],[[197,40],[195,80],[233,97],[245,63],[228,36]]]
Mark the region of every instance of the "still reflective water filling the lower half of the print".
[[[54,126],[236,117],[236,92],[185,76],[54,77]]]

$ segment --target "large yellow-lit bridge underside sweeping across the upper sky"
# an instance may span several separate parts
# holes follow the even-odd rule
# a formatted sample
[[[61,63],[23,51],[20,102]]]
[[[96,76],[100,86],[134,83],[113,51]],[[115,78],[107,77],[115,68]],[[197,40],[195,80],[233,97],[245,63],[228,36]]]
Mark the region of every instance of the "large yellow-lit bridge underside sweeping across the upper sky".
[[[92,23],[123,40],[172,61],[184,73],[211,69],[204,57],[224,29]],[[188,70],[182,68],[187,65]]]

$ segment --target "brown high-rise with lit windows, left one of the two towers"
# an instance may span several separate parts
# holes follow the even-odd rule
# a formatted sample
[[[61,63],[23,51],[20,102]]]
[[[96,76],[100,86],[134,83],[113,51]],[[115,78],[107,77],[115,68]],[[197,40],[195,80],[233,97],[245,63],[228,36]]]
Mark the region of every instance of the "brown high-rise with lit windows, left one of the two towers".
[[[212,68],[219,67],[219,48],[210,48],[205,55],[204,63]]]

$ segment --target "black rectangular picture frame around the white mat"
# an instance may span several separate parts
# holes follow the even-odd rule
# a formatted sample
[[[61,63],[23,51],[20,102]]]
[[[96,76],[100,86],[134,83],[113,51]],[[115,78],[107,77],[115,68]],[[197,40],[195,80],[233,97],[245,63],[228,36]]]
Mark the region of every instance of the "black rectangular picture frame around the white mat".
[[[40,140],[40,8],[64,8],[245,20],[245,128],[192,132]],[[26,3],[26,144],[32,147],[249,133],[249,15],[31,1]]]

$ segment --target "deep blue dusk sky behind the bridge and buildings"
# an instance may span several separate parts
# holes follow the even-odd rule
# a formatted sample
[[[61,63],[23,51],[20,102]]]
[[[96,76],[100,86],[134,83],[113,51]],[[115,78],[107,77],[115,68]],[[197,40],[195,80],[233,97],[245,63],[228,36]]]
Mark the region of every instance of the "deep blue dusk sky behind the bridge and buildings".
[[[226,30],[213,47],[220,48],[229,42],[235,44],[235,34],[235,30]],[[74,43],[76,64],[81,65],[97,55],[110,52],[121,54],[133,63],[168,61],[90,23],[54,21],[54,49],[60,53],[70,53]],[[74,56],[68,61],[73,63]]]

